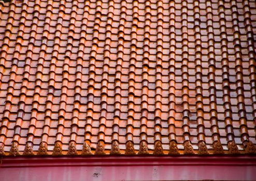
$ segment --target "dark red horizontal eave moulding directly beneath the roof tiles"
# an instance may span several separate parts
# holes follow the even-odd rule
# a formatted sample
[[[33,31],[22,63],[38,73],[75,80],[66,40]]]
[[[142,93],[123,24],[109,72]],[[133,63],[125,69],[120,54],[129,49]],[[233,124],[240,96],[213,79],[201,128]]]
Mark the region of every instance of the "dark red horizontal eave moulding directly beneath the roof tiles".
[[[254,165],[255,155],[115,155],[3,157],[1,168],[99,165]]]

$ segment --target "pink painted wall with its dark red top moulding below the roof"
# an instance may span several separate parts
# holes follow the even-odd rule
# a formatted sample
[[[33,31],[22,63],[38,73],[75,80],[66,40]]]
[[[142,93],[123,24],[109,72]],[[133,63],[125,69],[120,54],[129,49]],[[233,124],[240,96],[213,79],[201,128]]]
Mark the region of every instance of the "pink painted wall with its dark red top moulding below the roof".
[[[0,180],[256,180],[256,157],[4,157]]]

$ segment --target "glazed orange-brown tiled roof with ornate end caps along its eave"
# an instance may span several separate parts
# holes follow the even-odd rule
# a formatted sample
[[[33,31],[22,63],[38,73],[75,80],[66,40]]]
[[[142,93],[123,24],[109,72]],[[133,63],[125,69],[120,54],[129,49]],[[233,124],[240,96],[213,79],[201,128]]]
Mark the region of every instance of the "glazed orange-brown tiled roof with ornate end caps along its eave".
[[[256,3],[0,1],[0,153],[255,153]]]

